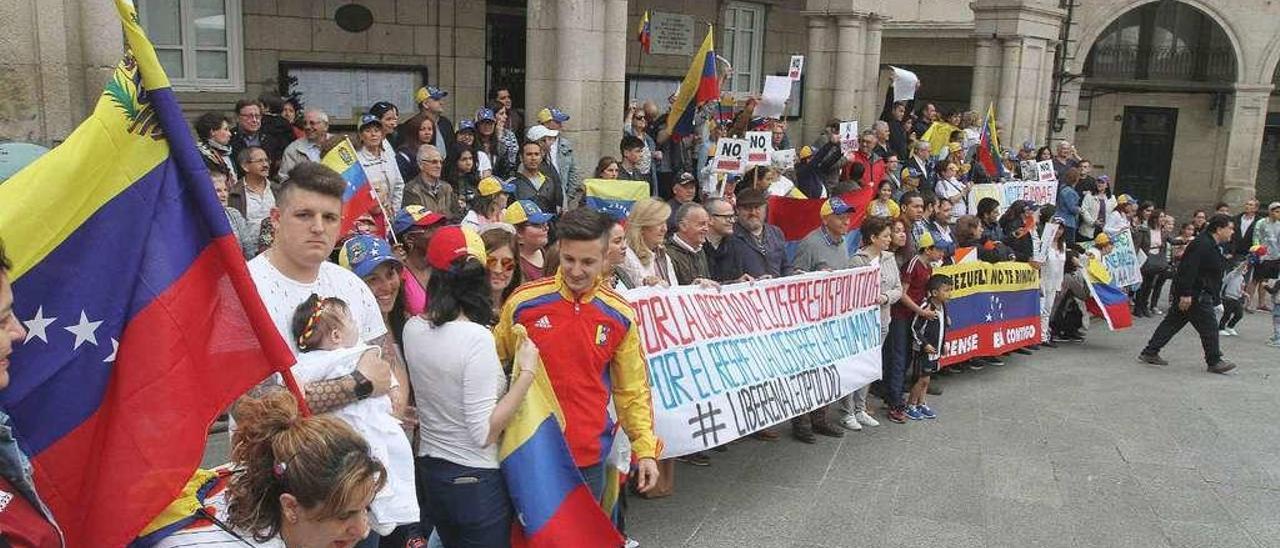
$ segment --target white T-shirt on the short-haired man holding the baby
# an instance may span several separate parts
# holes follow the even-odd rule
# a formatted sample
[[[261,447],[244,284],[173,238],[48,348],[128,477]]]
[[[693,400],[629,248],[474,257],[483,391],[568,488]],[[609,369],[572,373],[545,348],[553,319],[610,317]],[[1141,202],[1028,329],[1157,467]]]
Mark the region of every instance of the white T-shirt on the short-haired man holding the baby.
[[[320,264],[320,274],[315,280],[302,283],[280,274],[266,259],[268,255],[270,252],[248,261],[248,274],[257,286],[257,293],[262,296],[262,303],[266,305],[266,312],[271,315],[275,329],[289,343],[289,350],[294,355],[298,353],[298,341],[293,337],[289,323],[293,321],[293,311],[311,293],[343,300],[351,307],[351,315],[356,318],[361,341],[372,342],[387,334],[387,324],[383,323],[383,312],[378,309],[374,292],[351,270],[325,261]]]

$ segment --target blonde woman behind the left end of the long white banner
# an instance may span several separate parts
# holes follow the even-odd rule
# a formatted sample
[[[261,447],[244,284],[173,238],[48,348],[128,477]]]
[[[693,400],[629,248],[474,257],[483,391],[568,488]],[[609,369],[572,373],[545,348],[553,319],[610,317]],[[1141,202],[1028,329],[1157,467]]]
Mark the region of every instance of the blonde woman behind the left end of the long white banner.
[[[663,243],[667,239],[667,219],[671,206],[654,198],[644,198],[627,215],[626,259],[622,269],[644,286],[676,286],[676,268],[671,264]]]

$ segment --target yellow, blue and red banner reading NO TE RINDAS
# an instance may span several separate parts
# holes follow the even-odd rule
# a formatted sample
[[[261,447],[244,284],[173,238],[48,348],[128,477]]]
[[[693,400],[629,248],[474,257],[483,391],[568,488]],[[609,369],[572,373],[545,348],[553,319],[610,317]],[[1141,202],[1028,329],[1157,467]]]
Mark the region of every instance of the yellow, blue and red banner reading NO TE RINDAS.
[[[1000,356],[1041,341],[1039,271],[1025,262],[940,266],[951,277],[942,366]]]

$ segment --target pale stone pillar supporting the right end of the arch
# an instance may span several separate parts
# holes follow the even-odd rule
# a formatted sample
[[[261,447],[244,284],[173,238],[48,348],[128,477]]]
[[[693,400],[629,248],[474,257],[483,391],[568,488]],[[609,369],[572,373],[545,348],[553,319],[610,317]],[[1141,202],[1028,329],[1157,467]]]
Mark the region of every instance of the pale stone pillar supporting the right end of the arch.
[[[1231,97],[1231,132],[1226,141],[1226,173],[1220,192],[1233,206],[1254,197],[1262,129],[1267,118],[1271,83],[1235,85]]]

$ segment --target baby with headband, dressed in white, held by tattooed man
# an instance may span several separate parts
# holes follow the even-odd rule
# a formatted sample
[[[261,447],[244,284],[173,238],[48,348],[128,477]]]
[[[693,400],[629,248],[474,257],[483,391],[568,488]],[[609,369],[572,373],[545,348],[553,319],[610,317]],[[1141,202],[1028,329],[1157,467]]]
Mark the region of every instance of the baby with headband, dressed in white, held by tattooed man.
[[[381,351],[360,341],[360,330],[351,309],[337,297],[311,294],[293,312],[293,337],[298,343],[298,362],[293,376],[306,385],[351,375],[366,360],[381,360]],[[392,379],[392,389],[398,388]],[[398,525],[419,521],[417,494],[413,487],[413,451],[392,412],[388,394],[364,398],[330,411],[351,425],[369,442],[374,458],[387,467],[387,485],[370,504],[370,526],[379,535],[389,534]]]

